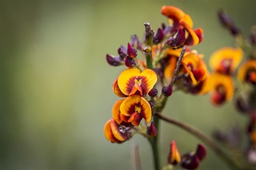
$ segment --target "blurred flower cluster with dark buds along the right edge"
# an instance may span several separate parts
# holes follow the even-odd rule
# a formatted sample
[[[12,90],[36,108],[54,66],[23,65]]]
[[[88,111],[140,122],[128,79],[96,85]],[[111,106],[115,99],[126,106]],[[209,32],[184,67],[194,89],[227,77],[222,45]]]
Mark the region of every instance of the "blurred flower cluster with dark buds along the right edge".
[[[243,169],[250,169],[256,165],[256,25],[252,27],[251,35],[246,40],[225,11],[220,10],[218,14],[222,25],[235,37],[238,47],[224,47],[212,54],[211,101],[215,105],[221,105],[234,98],[237,110],[249,118],[246,130],[249,145],[245,149],[239,145],[242,135],[238,133],[237,126],[228,133],[215,131],[214,137],[231,150],[239,152],[234,154],[238,163]],[[241,63],[243,56],[245,59]]]

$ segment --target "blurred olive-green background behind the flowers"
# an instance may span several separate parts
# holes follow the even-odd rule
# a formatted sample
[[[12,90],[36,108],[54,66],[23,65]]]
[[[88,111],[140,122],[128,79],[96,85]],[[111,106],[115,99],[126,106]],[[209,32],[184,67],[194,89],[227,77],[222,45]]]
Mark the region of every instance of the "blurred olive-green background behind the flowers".
[[[119,99],[112,83],[125,67],[111,67],[106,54],[117,55],[130,36],[143,37],[144,22],[157,30],[163,5],[188,13],[204,41],[193,47],[205,55],[235,46],[217,19],[226,10],[247,37],[255,20],[255,1],[0,1],[1,169],[132,169],[131,146],[138,143],[142,168],[152,169],[148,141],[140,135],[117,145],[103,126]],[[195,125],[208,135],[247,119],[233,103],[220,108],[209,96],[175,92],[165,115]],[[199,141],[161,123],[162,164],[170,141],[180,154]],[[199,169],[228,169],[209,148]]]

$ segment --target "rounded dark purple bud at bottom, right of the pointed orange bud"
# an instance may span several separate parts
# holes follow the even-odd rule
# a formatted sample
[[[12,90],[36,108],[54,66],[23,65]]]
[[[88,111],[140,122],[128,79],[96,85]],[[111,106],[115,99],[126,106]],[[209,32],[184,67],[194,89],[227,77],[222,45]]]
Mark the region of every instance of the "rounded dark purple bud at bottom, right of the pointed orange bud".
[[[185,169],[196,169],[199,166],[200,159],[198,156],[186,155],[181,157],[181,166]]]

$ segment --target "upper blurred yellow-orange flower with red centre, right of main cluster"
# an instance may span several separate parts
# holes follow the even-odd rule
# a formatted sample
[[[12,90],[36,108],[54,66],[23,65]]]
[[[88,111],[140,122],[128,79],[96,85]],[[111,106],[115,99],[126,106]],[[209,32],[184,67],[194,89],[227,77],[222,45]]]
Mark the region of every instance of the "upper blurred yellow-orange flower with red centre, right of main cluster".
[[[241,48],[225,47],[214,52],[210,57],[210,67],[222,74],[233,74],[243,57]]]

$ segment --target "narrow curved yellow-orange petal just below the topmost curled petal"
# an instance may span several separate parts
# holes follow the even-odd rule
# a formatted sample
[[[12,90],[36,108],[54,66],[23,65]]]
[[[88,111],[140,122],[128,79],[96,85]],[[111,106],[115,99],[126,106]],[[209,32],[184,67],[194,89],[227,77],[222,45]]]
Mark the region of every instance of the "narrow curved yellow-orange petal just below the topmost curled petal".
[[[197,45],[199,43],[199,38],[197,37],[196,32],[189,27],[186,22],[181,21],[180,24],[188,31],[188,37],[186,38],[185,44],[190,46]]]

